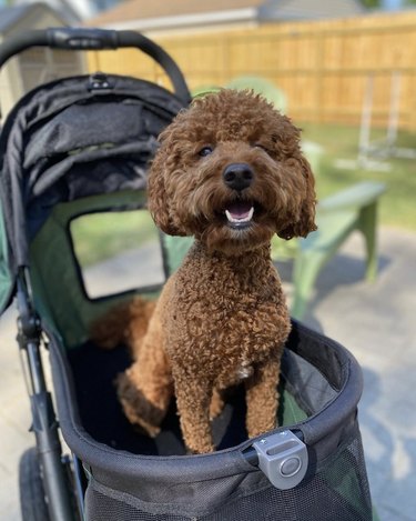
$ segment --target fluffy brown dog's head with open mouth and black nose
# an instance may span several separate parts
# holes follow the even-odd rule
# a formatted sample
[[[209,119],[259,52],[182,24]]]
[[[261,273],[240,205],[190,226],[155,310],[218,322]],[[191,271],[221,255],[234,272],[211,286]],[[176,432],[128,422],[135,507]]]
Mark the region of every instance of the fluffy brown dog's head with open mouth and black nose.
[[[149,208],[172,236],[237,253],[315,227],[314,178],[300,130],[262,97],[222,90],[196,99],[162,132]]]

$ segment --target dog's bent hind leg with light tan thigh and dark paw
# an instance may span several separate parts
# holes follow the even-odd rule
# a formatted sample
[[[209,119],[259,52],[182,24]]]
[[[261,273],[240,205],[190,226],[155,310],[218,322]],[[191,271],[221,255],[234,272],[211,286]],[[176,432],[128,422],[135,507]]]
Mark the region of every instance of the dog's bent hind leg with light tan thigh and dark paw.
[[[156,319],[152,318],[138,360],[116,383],[119,400],[130,422],[151,437],[158,435],[173,394],[173,379]]]

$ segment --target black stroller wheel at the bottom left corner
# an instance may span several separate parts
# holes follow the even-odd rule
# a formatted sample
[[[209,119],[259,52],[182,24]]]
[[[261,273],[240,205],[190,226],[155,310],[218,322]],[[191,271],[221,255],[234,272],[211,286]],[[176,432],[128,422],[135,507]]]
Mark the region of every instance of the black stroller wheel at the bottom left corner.
[[[19,463],[20,509],[24,521],[49,521],[43,481],[35,447],[23,452]]]

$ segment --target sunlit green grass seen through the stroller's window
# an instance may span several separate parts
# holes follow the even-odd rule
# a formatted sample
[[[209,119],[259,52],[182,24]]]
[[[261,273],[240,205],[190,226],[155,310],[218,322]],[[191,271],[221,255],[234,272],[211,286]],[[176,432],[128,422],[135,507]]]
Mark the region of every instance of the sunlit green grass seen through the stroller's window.
[[[146,211],[90,213],[71,222],[71,236],[82,268],[158,238]]]

